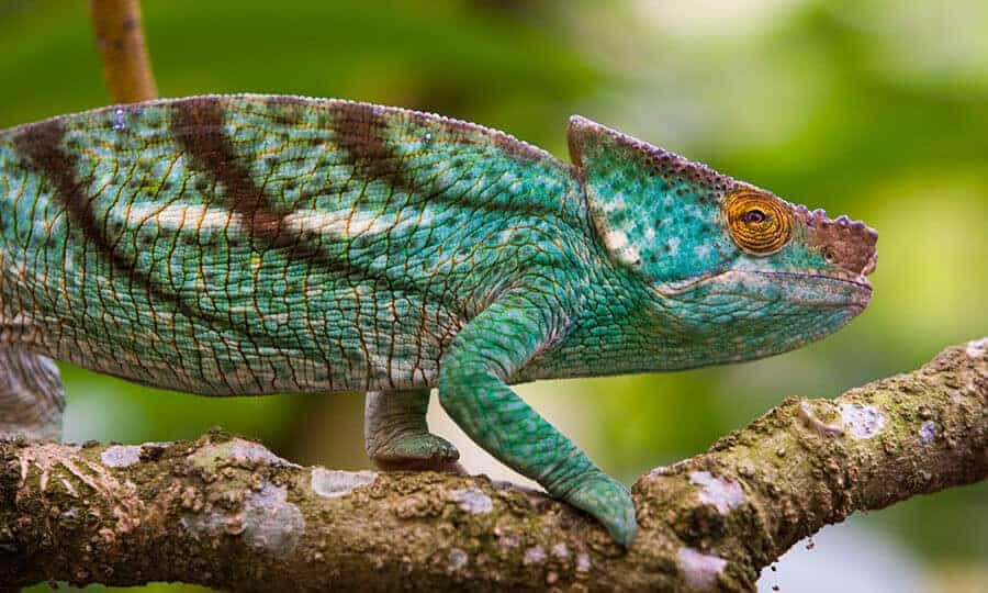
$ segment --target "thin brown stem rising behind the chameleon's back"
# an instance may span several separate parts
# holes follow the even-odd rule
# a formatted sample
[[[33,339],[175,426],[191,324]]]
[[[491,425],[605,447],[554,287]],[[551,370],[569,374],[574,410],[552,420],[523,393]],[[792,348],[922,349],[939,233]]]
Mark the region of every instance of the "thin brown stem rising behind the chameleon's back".
[[[90,0],[89,11],[113,100],[134,103],[156,98],[138,0]]]

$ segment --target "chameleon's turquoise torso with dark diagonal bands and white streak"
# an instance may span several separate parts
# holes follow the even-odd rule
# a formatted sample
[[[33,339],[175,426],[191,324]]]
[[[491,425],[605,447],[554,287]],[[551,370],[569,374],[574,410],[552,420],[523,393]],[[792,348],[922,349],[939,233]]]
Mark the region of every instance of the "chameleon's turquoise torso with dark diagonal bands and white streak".
[[[431,387],[459,328],[579,221],[575,188],[508,136],[345,101],[22,126],[0,134],[0,328],[199,393]]]

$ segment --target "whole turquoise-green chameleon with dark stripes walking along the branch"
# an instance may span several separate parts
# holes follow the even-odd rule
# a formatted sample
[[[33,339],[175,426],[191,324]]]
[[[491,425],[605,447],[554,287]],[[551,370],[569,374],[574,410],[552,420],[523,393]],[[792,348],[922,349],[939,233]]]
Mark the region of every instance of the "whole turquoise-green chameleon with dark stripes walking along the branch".
[[[875,231],[582,116],[572,163],[444,116],[202,96],[0,132],[0,434],[53,359],[203,395],[364,392],[380,467],[482,448],[630,546],[628,489],[510,385],[738,362],[868,304]]]

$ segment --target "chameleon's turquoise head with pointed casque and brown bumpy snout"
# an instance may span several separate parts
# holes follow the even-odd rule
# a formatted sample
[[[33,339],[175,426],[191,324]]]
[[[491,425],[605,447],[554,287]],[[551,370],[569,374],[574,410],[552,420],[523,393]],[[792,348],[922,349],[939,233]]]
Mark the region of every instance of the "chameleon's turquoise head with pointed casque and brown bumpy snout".
[[[583,118],[570,152],[613,265],[643,284],[639,322],[671,368],[760,358],[864,311],[878,235]]]

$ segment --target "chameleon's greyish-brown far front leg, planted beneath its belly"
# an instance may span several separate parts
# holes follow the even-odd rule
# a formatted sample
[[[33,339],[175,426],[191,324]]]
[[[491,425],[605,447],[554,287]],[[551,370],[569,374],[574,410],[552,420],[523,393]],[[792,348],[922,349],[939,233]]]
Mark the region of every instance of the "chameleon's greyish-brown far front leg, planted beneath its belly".
[[[363,412],[367,455],[383,470],[454,470],[460,452],[429,433],[428,389],[371,391]]]

